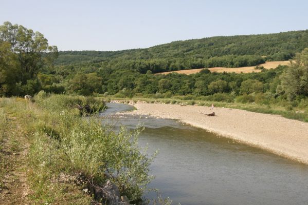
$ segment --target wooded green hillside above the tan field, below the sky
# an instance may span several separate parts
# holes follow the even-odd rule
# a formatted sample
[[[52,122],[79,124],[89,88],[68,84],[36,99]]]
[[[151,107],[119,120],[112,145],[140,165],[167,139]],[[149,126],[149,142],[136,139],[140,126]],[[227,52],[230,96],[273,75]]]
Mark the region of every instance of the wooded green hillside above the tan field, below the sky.
[[[210,67],[255,66],[288,60],[308,47],[308,30],[275,34],[216,36],[176,41],[146,49],[60,51],[56,65],[108,63],[145,73]]]

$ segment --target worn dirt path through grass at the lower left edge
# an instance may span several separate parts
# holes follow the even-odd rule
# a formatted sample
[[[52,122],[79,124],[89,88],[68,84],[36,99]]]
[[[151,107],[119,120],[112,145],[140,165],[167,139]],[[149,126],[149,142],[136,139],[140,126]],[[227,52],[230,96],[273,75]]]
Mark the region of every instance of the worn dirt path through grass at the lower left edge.
[[[29,149],[26,136],[15,117],[9,117],[1,136],[0,204],[31,204],[28,196],[26,156]]]

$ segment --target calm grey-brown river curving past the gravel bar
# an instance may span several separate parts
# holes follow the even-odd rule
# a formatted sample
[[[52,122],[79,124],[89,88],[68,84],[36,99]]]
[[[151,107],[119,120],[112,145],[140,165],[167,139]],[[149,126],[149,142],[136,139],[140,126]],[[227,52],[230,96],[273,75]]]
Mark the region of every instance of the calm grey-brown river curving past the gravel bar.
[[[159,149],[150,187],[160,189],[172,204],[308,204],[307,165],[176,120],[113,115],[132,110],[129,105],[107,106],[103,120],[115,130],[143,124],[140,146],[148,144],[149,153]]]

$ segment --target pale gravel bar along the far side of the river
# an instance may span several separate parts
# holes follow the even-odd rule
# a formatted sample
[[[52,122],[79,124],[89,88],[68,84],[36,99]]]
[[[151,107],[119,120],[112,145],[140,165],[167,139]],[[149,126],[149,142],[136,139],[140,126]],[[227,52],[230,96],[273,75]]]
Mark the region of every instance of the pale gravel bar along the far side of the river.
[[[308,123],[230,108],[134,104],[130,113],[178,119],[195,127],[308,164]],[[215,112],[215,117],[204,113]]]

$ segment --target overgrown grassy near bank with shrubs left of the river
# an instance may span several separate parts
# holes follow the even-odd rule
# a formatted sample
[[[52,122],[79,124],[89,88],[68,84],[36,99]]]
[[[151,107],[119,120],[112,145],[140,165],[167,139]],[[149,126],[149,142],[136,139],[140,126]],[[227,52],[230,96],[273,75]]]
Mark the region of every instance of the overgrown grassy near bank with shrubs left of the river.
[[[140,201],[152,178],[148,172],[153,156],[140,152],[138,132],[123,128],[115,133],[95,115],[81,117],[76,105],[90,105],[94,111],[105,107],[100,99],[44,92],[33,101],[0,98],[0,177],[13,172],[9,158],[24,147],[27,152],[20,163],[31,192],[25,196],[30,204],[89,204],[92,196],[85,188],[107,180],[119,188],[121,196]],[[16,128],[18,135],[13,134]],[[76,178],[82,178],[82,183],[76,183]]]

